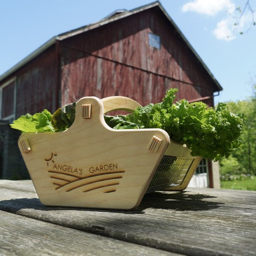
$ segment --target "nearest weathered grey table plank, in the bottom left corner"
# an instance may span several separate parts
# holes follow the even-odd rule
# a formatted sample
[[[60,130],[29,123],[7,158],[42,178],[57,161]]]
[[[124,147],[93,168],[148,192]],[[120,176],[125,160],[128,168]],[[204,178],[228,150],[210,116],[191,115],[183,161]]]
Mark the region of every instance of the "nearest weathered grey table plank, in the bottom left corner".
[[[170,255],[100,235],[0,211],[0,255]]]

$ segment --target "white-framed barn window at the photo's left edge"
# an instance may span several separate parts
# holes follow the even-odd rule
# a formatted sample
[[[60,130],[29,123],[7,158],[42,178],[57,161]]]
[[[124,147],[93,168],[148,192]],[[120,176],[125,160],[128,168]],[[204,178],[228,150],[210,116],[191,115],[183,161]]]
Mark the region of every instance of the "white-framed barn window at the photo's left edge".
[[[13,78],[0,86],[0,119],[12,121],[15,118],[15,98],[16,79]]]

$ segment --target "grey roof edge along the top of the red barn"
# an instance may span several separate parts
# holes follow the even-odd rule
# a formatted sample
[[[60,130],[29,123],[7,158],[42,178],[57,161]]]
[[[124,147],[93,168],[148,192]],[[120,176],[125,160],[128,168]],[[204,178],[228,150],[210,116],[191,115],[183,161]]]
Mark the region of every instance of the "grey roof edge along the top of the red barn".
[[[56,41],[65,40],[66,38],[75,36],[77,34],[84,33],[84,32],[89,31],[91,29],[98,28],[98,27],[106,25],[106,24],[108,24],[110,22],[114,22],[116,20],[120,20],[122,18],[134,15],[135,13],[139,13],[139,12],[142,12],[142,11],[145,11],[147,9],[154,8],[154,7],[159,8],[162,11],[162,13],[165,15],[165,17],[169,20],[170,24],[172,24],[172,26],[174,26],[174,28],[177,30],[177,33],[179,34],[179,36],[185,41],[185,43],[188,46],[188,48],[193,52],[195,57],[201,63],[201,65],[203,66],[205,71],[210,75],[212,80],[214,80],[214,82],[215,82],[217,88],[219,89],[219,91],[221,91],[223,88],[220,86],[219,82],[214,78],[214,76],[212,75],[211,71],[208,69],[208,67],[205,65],[205,63],[202,61],[202,59],[197,54],[197,52],[194,50],[194,48],[190,45],[189,41],[187,41],[186,37],[182,34],[181,30],[179,30],[178,26],[175,24],[175,22],[172,20],[172,18],[168,15],[168,13],[162,7],[162,5],[160,4],[159,1],[156,1],[156,2],[153,2],[153,3],[147,4],[147,5],[141,6],[139,8],[132,9],[131,11],[127,11],[125,9],[116,10],[115,12],[111,13],[106,18],[103,18],[102,20],[100,20],[98,22],[95,22],[93,24],[89,24],[89,25],[86,25],[86,26],[82,26],[82,27],[80,27],[78,29],[70,30],[68,32],[59,34],[58,36],[54,36],[49,41],[47,41],[45,44],[40,46],[38,49],[33,51],[31,54],[29,54],[27,57],[25,57],[20,62],[18,62],[11,69],[9,69],[4,74],[2,74],[0,76],[0,82],[1,82],[1,80],[7,78],[9,75],[14,73],[20,67],[24,66],[26,63],[31,61],[33,58],[37,57],[39,54],[41,54],[43,51],[48,49],[50,46],[54,45],[56,43]]]

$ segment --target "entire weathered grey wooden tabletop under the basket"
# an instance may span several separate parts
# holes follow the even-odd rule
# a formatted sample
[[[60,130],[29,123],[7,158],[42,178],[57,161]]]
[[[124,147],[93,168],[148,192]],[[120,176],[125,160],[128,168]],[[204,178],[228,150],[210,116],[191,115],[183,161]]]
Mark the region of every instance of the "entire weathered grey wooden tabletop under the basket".
[[[0,180],[0,255],[256,255],[256,191],[154,192],[132,211],[46,207]]]

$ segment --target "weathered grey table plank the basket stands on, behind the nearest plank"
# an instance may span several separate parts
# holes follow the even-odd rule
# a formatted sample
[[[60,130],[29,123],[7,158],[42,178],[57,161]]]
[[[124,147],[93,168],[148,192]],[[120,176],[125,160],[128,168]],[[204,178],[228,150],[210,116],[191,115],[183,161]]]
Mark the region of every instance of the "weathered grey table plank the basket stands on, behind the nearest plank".
[[[110,211],[45,207],[29,181],[0,188],[1,210],[60,226],[185,255],[255,255],[256,191],[150,193],[133,211]]]

